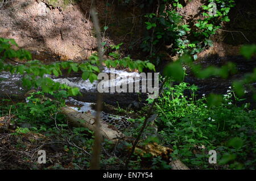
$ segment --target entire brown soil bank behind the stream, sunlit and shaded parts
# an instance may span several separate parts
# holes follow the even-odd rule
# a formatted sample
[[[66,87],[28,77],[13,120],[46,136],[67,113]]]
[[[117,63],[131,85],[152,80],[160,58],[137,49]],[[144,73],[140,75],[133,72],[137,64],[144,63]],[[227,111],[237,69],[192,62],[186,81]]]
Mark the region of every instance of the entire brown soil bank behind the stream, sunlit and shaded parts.
[[[58,2],[58,3],[56,3]],[[49,1],[15,0],[6,1],[0,8],[0,37],[13,38],[21,48],[32,51],[34,58],[39,54],[51,54],[55,60],[86,60],[96,52],[96,39],[90,19],[90,1]],[[256,42],[256,5],[254,1],[236,1],[237,5],[229,13],[230,22],[222,23],[222,29],[210,37],[214,46],[198,54],[199,59],[218,54],[220,57],[239,54],[242,44]],[[185,1],[181,14],[185,21],[200,19],[201,6],[207,1]],[[141,8],[140,2],[97,1],[96,10],[102,27],[102,37],[106,46],[124,43],[123,54],[142,59],[148,54],[142,52],[146,26],[143,15],[153,11]],[[108,27],[104,30],[103,27]],[[171,61],[174,54],[164,47],[163,60]]]

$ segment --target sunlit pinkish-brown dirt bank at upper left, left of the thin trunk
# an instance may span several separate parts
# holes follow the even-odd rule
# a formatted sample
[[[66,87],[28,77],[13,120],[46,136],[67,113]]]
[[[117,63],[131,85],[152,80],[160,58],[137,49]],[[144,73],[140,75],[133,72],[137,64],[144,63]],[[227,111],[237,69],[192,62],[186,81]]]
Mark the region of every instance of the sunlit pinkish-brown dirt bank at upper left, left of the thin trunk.
[[[63,60],[81,59],[96,50],[92,23],[78,5],[65,9],[36,0],[8,2],[0,10],[0,37],[36,52],[51,52]]]

